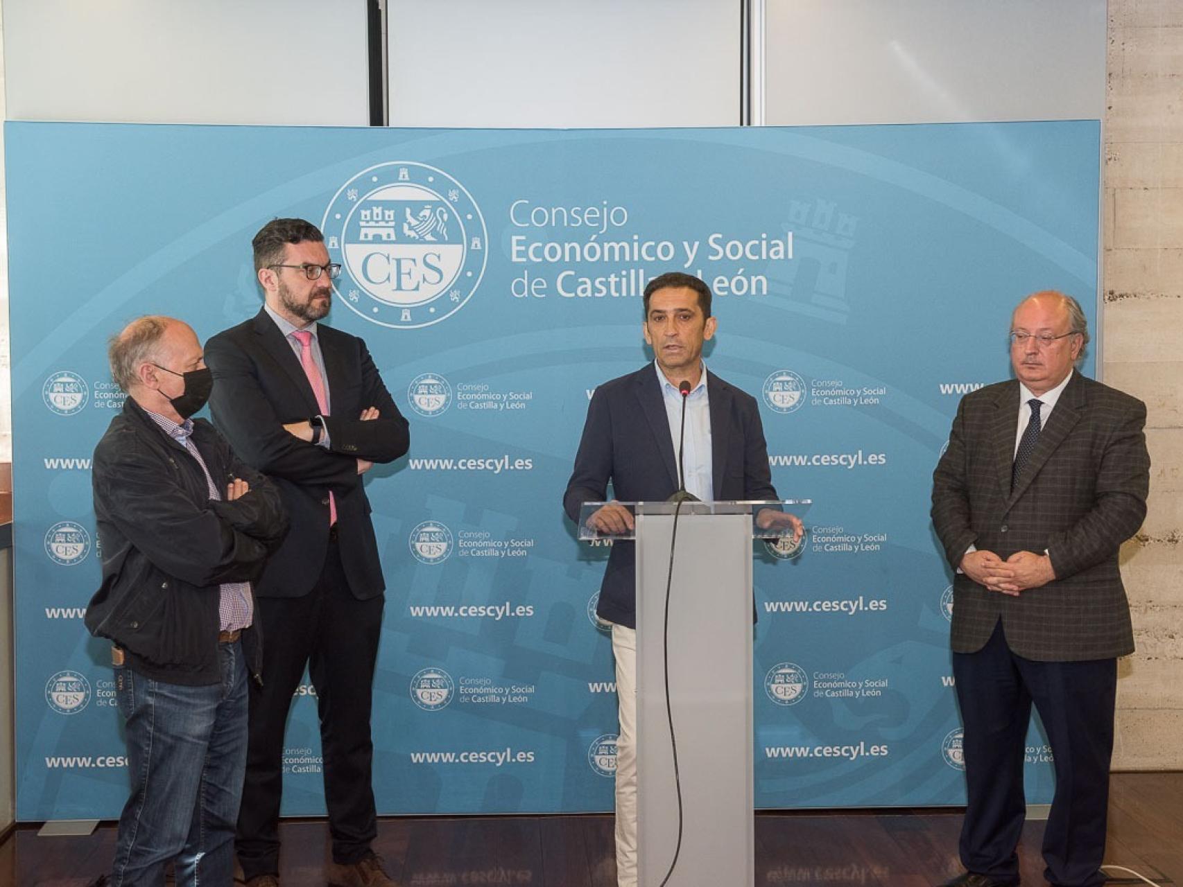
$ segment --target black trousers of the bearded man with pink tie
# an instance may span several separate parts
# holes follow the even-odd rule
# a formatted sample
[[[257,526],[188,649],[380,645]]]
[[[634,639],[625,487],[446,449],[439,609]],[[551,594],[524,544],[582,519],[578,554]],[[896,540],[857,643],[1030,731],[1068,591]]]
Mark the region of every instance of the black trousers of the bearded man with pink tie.
[[[260,597],[263,687],[252,684],[246,779],[234,849],[247,879],[279,872],[284,733],[305,665],[316,688],[324,797],[335,862],[356,862],[377,834],[370,707],[382,596],[349,590],[336,540],[303,597]]]

